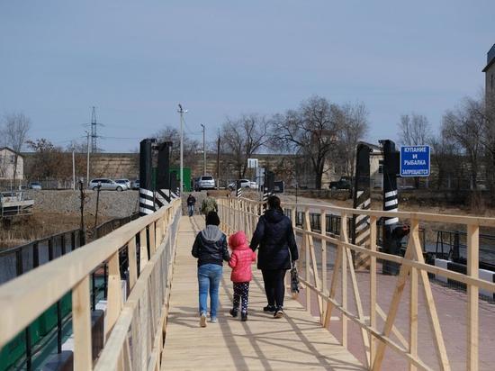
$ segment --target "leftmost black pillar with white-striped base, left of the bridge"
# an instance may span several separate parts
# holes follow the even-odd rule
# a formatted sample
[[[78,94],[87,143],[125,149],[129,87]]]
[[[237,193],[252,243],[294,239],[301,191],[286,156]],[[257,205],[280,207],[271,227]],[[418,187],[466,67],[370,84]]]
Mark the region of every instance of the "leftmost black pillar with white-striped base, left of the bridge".
[[[139,216],[155,212],[155,196],[151,182],[151,146],[155,141],[145,139],[139,143]]]

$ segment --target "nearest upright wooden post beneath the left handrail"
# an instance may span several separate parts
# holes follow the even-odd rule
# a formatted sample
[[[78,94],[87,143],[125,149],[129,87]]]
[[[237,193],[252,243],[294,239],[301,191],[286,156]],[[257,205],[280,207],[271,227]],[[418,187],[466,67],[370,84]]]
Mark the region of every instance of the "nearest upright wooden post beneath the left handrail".
[[[91,307],[89,303],[89,276],[72,289],[72,330],[74,332],[74,369],[93,369],[91,347]]]

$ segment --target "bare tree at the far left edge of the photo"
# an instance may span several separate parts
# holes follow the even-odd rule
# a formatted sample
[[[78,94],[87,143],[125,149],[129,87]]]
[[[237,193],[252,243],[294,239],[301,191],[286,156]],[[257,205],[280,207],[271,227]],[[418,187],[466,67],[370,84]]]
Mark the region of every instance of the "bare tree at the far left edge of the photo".
[[[31,119],[24,113],[8,113],[4,116],[2,134],[7,146],[14,149],[14,179],[17,175],[17,160],[23,149],[28,132],[31,128]]]

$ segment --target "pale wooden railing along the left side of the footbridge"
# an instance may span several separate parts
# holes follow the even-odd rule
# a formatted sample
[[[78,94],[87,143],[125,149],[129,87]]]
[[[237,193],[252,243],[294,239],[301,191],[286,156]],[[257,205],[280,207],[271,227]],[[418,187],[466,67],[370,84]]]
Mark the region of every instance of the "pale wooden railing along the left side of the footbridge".
[[[75,370],[158,369],[180,206],[181,201],[175,200],[156,213],[125,224],[0,286],[0,348],[71,292]],[[121,290],[119,250],[122,248],[127,249],[129,256],[127,298],[122,298]],[[103,263],[108,264],[105,343],[94,362],[89,277]]]

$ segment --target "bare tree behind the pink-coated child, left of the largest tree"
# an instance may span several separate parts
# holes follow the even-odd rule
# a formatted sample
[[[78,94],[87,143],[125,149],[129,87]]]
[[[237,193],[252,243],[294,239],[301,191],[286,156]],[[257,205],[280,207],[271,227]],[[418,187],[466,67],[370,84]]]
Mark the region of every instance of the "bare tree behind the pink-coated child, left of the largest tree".
[[[247,158],[261,149],[268,138],[268,123],[256,113],[243,114],[238,119],[227,119],[221,128],[223,151],[232,157],[238,178],[246,176]]]

